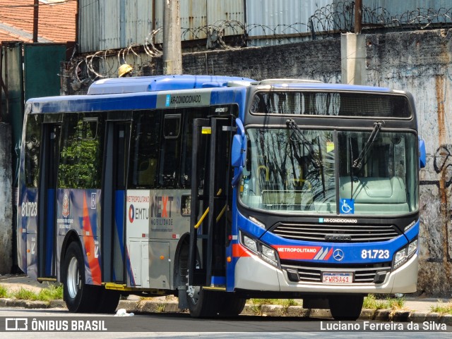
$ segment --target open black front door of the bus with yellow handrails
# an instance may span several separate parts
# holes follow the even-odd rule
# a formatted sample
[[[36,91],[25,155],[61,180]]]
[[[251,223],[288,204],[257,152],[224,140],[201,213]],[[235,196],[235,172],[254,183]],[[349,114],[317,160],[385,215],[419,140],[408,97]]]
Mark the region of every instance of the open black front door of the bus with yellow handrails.
[[[232,121],[232,116],[194,120],[189,285],[226,283]]]

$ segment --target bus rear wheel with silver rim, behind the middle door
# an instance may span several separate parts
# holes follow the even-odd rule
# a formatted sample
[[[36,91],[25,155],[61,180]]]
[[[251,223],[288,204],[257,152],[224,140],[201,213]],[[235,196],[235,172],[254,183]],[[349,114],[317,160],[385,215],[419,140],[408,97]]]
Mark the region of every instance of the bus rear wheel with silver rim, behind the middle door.
[[[97,286],[85,284],[85,261],[82,249],[71,242],[63,265],[63,296],[69,312],[95,312],[97,307]]]

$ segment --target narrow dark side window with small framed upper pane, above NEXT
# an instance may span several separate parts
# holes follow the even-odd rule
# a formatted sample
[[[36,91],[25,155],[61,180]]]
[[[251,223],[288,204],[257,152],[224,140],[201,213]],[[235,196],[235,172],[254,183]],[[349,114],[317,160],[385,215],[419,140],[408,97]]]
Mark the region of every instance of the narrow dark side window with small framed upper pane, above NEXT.
[[[167,114],[163,121],[160,148],[160,171],[158,185],[163,188],[176,188],[179,178],[179,155],[181,149],[180,114]]]

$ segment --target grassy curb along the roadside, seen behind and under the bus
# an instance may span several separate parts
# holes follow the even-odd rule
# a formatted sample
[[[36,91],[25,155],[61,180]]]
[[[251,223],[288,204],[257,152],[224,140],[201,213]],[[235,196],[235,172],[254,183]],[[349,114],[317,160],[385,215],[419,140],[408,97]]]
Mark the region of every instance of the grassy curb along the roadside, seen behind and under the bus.
[[[16,300],[0,298],[0,307],[22,307],[25,309],[66,309],[63,300],[41,302],[31,300]],[[179,309],[177,302],[159,302],[153,300],[120,300],[118,309],[126,309],[133,313],[188,313],[186,309]],[[329,309],[304,309],[302,306],[283,307],[282,305],[254,305],[246,304],[242,315],[249,316],[299,316],[301,318],[317,319],[331,318]],[[397,321],[423,323],[434,321],[452,326],[452,314],[439,314],[436,312],[415,312],[409,310],[392,309],[362,309],[359,320]]]

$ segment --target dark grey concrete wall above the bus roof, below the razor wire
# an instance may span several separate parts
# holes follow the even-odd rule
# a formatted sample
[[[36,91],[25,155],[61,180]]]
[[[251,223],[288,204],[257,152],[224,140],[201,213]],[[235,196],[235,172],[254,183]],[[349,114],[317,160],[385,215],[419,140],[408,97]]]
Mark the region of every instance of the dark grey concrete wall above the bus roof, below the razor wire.
[[[234,75],[256,80],[309,78],[340,82],[340,39],[183,54],[184,74]],[[143,75],[162,74],[162,62],[143,68]]]

